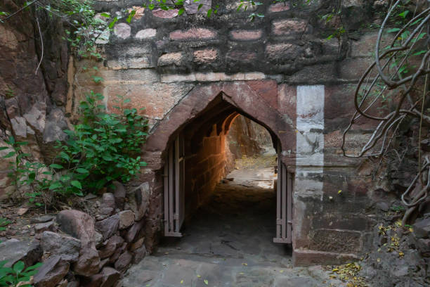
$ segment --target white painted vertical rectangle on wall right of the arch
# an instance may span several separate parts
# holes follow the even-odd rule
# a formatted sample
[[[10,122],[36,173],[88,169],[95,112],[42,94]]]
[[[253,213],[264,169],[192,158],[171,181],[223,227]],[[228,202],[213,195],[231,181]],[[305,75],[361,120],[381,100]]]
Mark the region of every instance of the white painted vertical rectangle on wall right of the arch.
[[[324,99],[324,86],[297,87],[296,196],[323,195]]]

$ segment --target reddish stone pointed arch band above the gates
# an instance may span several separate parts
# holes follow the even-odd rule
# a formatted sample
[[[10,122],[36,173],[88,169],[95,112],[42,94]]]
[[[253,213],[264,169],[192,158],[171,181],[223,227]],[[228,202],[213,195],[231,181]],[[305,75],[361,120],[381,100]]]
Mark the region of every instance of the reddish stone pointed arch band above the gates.
[[[260,81],[264,84],[265,81]],[[268,81],[271,82],[271,81]],[[282,114],[266,98],[261,97],[247,82],[225,82],[199,84],[194,87],[152,130],[145,145],[145,158],[150,158],[150,168],[162,168],[162,158],[174,134],[201,115],[202,112],[221,96],[255,122],[266,127],[280,141],[282,151],[296,149],[295,119]],[[277,95],[273,95],[276,98]],[[287,167],[295,166],[294,153],[282,153],[282,162]]]

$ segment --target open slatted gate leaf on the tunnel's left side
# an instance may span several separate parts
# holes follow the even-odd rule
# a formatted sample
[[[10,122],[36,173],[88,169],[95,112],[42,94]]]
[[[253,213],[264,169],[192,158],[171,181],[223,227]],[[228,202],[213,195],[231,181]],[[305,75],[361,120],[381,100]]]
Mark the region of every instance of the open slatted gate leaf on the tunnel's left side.
[[[185,217],[185,160],[183,136],[169,147],[164,165],[164,236],[181,237]]]

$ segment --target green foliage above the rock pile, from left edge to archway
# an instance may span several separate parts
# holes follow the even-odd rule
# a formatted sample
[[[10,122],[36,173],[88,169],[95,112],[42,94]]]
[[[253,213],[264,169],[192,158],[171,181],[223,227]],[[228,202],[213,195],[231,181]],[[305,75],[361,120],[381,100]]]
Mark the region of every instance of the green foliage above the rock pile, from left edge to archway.
[[[12,151],[4,158],[15,157],[9,177],[17,187],[32,187],[25,193],[30,203],[51,205],[58,196],[100,191],[114,180],[129,181],[146,165],[138,155],[147,135],[145,118],[136,108],[124,108],[129,99],[118,98],[117,113],[107,113],[100,101],[101,94],[91,91],[86,95],[86,101],[80,103],[81,122],[65,131],[67,141],[57,141],[59,152],[51,165],[31,162],[30,154],[21,149],[27,142],[15,141],[13,136],[6,141]]]

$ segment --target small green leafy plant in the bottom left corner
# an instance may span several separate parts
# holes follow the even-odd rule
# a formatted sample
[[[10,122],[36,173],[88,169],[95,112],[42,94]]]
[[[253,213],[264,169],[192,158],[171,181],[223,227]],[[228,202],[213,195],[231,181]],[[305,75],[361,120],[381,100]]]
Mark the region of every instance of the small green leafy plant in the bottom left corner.
[[[25,264],[22,261],[18,261],[13,264],[13,267],[4,267],[7,261],[0,262],[0,287],[15,286],[20,282],[30,281],[30,277],[37,273],[37,269],[41,267],[41,263],[34,264],[30,267],[25,268]],[[32,286],[31,284],[25,284],[22,286]]]

